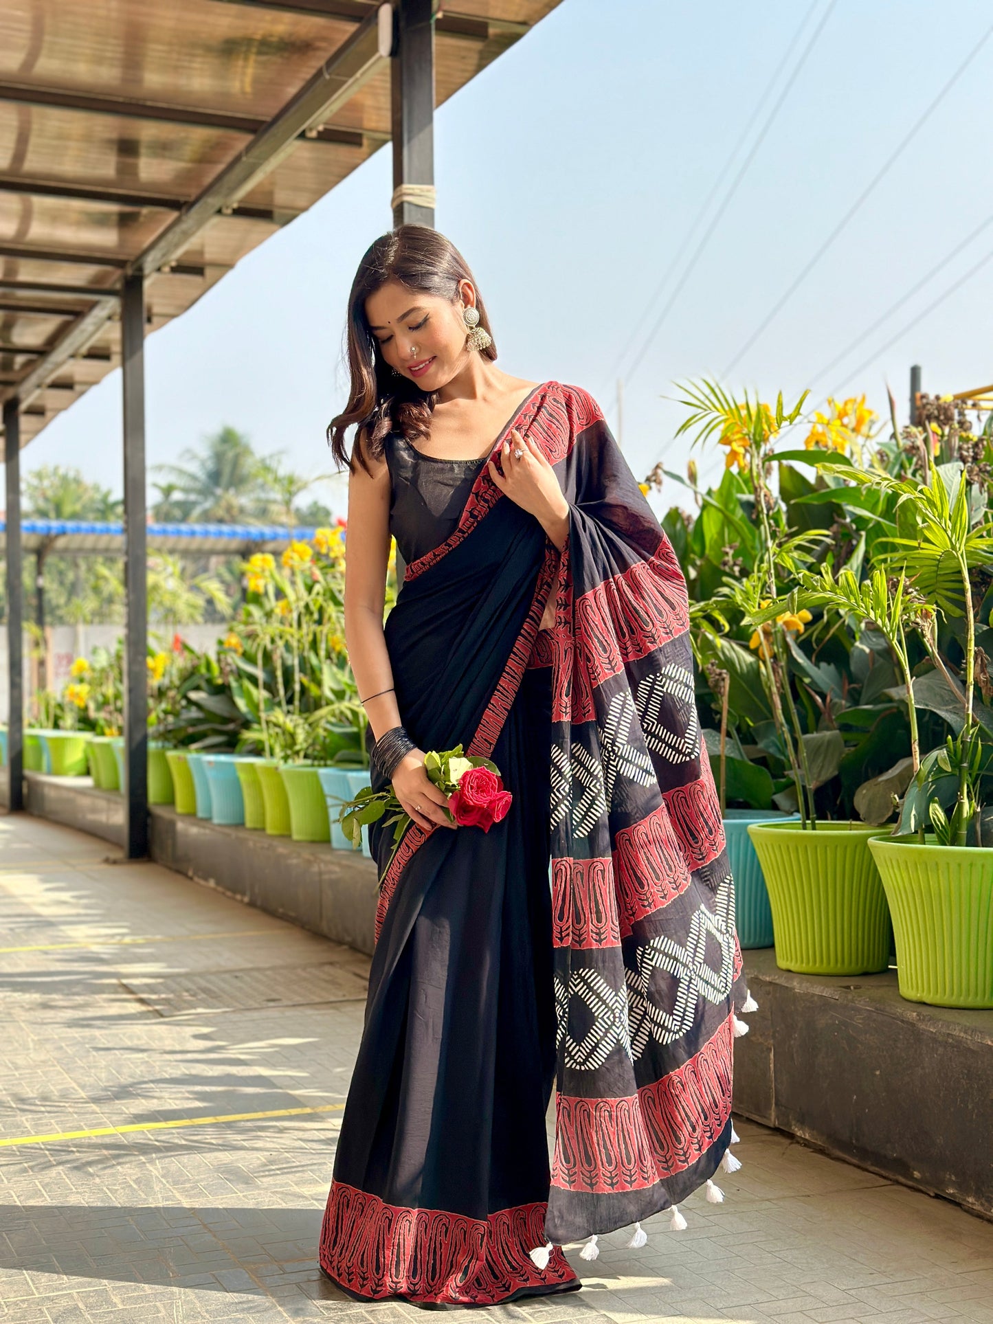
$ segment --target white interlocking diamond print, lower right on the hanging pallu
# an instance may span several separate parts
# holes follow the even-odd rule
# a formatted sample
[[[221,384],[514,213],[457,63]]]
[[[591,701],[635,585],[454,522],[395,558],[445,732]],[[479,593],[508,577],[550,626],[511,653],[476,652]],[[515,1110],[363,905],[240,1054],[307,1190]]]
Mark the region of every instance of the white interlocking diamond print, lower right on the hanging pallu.
[[[735,892],[731,876],[722,880],[715,902],[714,912],[700,906],[692,916],[686,947],[670,937],[654,937],[636,952],[634,969],[630,965],[625,968],[636,1062],[650,1043],[673,1043],[692,1027],[699,997],[720,1004],[731,993],[735,964]],[[708,935],[720,951],[718,970],[706,959]],[[659,1008],[650,994],[655,970],[671,974],[678,982],[671,1012]]]

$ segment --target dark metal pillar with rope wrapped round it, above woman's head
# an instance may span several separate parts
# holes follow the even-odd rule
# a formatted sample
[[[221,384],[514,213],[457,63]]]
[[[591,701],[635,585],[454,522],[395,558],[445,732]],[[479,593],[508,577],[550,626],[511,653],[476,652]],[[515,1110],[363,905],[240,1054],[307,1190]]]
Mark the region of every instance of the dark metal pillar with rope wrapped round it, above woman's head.
[[[400,0],[391,70],[393,225],[434,226],[436,0]]]

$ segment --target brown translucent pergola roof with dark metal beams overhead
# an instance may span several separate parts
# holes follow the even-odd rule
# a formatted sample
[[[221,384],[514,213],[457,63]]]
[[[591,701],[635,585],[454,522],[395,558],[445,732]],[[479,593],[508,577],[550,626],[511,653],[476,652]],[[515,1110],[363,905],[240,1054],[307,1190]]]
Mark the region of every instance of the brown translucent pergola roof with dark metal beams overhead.
[[[436,103],[559,0],[455,0]],[[376,0],[3,0],[0,401],[21,445],[391,138]],[[25,531],[26,531],[25,526]]]

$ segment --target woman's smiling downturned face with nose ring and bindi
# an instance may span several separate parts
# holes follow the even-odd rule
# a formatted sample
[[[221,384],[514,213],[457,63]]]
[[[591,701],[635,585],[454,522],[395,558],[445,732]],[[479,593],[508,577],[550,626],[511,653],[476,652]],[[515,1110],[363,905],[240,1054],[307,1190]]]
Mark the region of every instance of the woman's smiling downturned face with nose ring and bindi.
[[[440,391],[466,365],[462,308],[469,305],[475,305],[469,281],[453,303],[389,281],[365,299],[365,316],[385,363],[421,391]]]

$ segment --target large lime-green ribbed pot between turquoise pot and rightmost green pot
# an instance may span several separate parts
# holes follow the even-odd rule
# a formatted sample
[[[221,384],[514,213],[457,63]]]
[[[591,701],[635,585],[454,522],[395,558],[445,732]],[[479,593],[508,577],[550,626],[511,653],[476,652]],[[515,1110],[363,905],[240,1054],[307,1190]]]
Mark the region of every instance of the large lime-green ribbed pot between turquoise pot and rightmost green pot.
[[[751,824],[772,907],[776,964],[800,974],[871,974],[890,964],[890,911],[869,851],[879,828]]]

